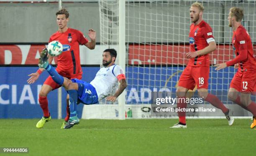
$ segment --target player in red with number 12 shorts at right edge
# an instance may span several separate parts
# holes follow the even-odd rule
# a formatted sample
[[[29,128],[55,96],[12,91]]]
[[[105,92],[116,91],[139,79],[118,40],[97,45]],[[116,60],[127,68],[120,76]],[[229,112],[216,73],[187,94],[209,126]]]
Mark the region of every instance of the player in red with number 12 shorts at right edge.
[[[253,45],[251,37],[241,25],[243,10],[231,7],[228,14],[229,27],[233,28],[232,44],[236,58],[221,64],[216,64],[216,70],[228,66],[238,65],[238,71],[234,75],[228,98],[253,114],[251,128],[256,127],[256,103],[251,101],[251,94],[256,93],[256,59],[253,56]],[[238,93],[241,93],[240,97]]]

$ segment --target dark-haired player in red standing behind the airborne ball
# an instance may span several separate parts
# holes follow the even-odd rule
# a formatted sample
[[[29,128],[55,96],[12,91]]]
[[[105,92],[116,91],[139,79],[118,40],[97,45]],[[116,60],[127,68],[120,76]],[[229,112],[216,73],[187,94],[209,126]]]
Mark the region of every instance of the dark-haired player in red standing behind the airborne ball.
[[[67,27],[67,22],[69,21],[69,12],[66,9],[61,9],[56,12],[56,22],[59,30],[51,35],[49,42],[58,40],[63,45],[63,52],[58,56],[58,66],[56,71],[63,77],[68,79],[82,79],[82,68],[80,65],[79,56],[79,45],[85,45],[89,49],[95,48],[95,38],[96,32],[92,29],[89,30],[88,36],[91,41],[88,41],[86,37],[79,30],[75,30]],[[48,62],[51,63],[54,57],[49,56]],[[30,78],[27,80],[28,84],[33,84],[43,72],[43,68],[37,70],[37,72],[29,74]],[[36,124],[37,128],[42,128],[45,122],[51,120],[51,116],[48,109],[47,94],[51,90],[61,87],[56,84],[54,80],[49,76],[39,93],[39,104],[43,109],[44,116]],[[69,96],[67,96],[67,116],[65,121],[69,120]],[[65,123],[64,123],[65,124]],[[64,125],[63,124],[63,125]],[[61,127],[63,127],[63,125]]]

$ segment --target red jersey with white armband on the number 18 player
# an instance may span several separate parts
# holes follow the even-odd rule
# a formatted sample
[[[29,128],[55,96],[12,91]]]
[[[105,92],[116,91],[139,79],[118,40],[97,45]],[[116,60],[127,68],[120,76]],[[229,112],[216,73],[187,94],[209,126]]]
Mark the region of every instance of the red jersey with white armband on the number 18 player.
[[[200,22],[198,25],[192,23],[190,25],[189,32],[189,44],[190,44],[190,52],[195,52],[197,50],[202,50],[208,46],[208,43],[212,42],[214,37],[212,35],[212,28],[207,24],[204,20]],[[189,59],[187,64],[188,66],[210,66],[209,62],[209,54],[201,55],[195,58]]]

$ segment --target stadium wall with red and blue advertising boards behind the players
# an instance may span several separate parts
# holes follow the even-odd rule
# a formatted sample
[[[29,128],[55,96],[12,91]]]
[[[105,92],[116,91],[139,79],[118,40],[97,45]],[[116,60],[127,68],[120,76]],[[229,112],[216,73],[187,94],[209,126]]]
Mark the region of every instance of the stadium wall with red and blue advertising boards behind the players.
[[[63,6],[70,13],[69,27],[81,30],[86,37],[88,37],[86,34],[89,28],[93,28],[97,32],[95,50],[87,50],[80,46],[83,79],[90,82],[100,68],[102,45],[99,43],[101,35],[99,4],[97,0],[86,1],[64,1]],[[150,104],[149,93],[154,90],[174,92],[174,86],[179,78],[178,74],[172,77],[172,81],[168,82],[167,86],[166,80],[173,73],[183,70],[187,63],[183,52],[189,50],[187,35],[190,22],[186,18],[189,16],[187,6],[191,1],[169,1],[168,5],[162,5],[160,2],[160,0],[156,0],[156,2],[146,2],[141,5],[138,5],[138,2],[126,4],[127,58],[125,64],[128,66],[126,67],[126,76],[128,77],[126,104]],[[232,34],[227,20],[228,8],[233,5],[242,6],[246,10],[244,25],[250,33],[252,41],[255,42],[256,31],[253,25],[256,25],[254,20],[256,6],[253,2],[234,1],[230,3],[221,0],[204,2],[204,19],[212,26],[215,40],[218,43],[218,50],[216,50],[218,53],[210,55],[211,64],[216,64],[218,60],[233,58],[233,50],[230,47]],[[28,74],[36,72],[38,52],[45,47],[49,36],[57,30],[56,10],[58,10],[56,2],[0,3],[0,13],[3,15],[0,17],[2,23],[0,29],[0,75],[3,75],[0,79],[0,118],[41,117],[38,92],[48,74],[42,74],[32,85],[26,84],[26,80]],[[147,25],[146,20],[143,21],[137,17],[138,15],[139,18],[143,18],[141,12],[148,13],[145,14],[145,17],[151,15],[149,17],[153,21],[150,23],[151,27],[138,25],[138,23]],[[172,23],[171,26],[169,26],[170,23]],[[136,29],[136,27],[139,28]],[[148,28],[152,27],[155,29],[149,31]],[[166,31],[170,35],[164,33]],[[154,62],[152,62],[152,56],[157,55],[159,51],[162,57],[153,57]],[[168,55],[169,51],[173,51],[173,53]],[[210,90],[223,89],[227,91],[228,83],[235,70],[233,67],[229,67],[217,73],[213,69],[211,67],[210,70]],[[156,75],[165,76],[157,77]],[[168,88],[168,86],[172,87]],[[63,118],[66,106],[64,89],[62,89],[62,93]],[[56,94],[56,91],[51,92],[48,97],[49,109],[53,118],[57,118]],[[79,105],[79,117],[81,117],[82,107],[83,105]],[[126,111],[128,112],[128,110]]]

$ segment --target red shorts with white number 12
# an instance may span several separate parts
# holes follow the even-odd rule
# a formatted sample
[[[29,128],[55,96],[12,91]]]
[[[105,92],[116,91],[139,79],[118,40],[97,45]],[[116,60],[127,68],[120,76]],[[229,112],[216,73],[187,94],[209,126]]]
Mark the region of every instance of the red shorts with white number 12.
[[[256,72],[241,72],[238,70],[230,83],[230,88],[243,93],[255,93]]]

